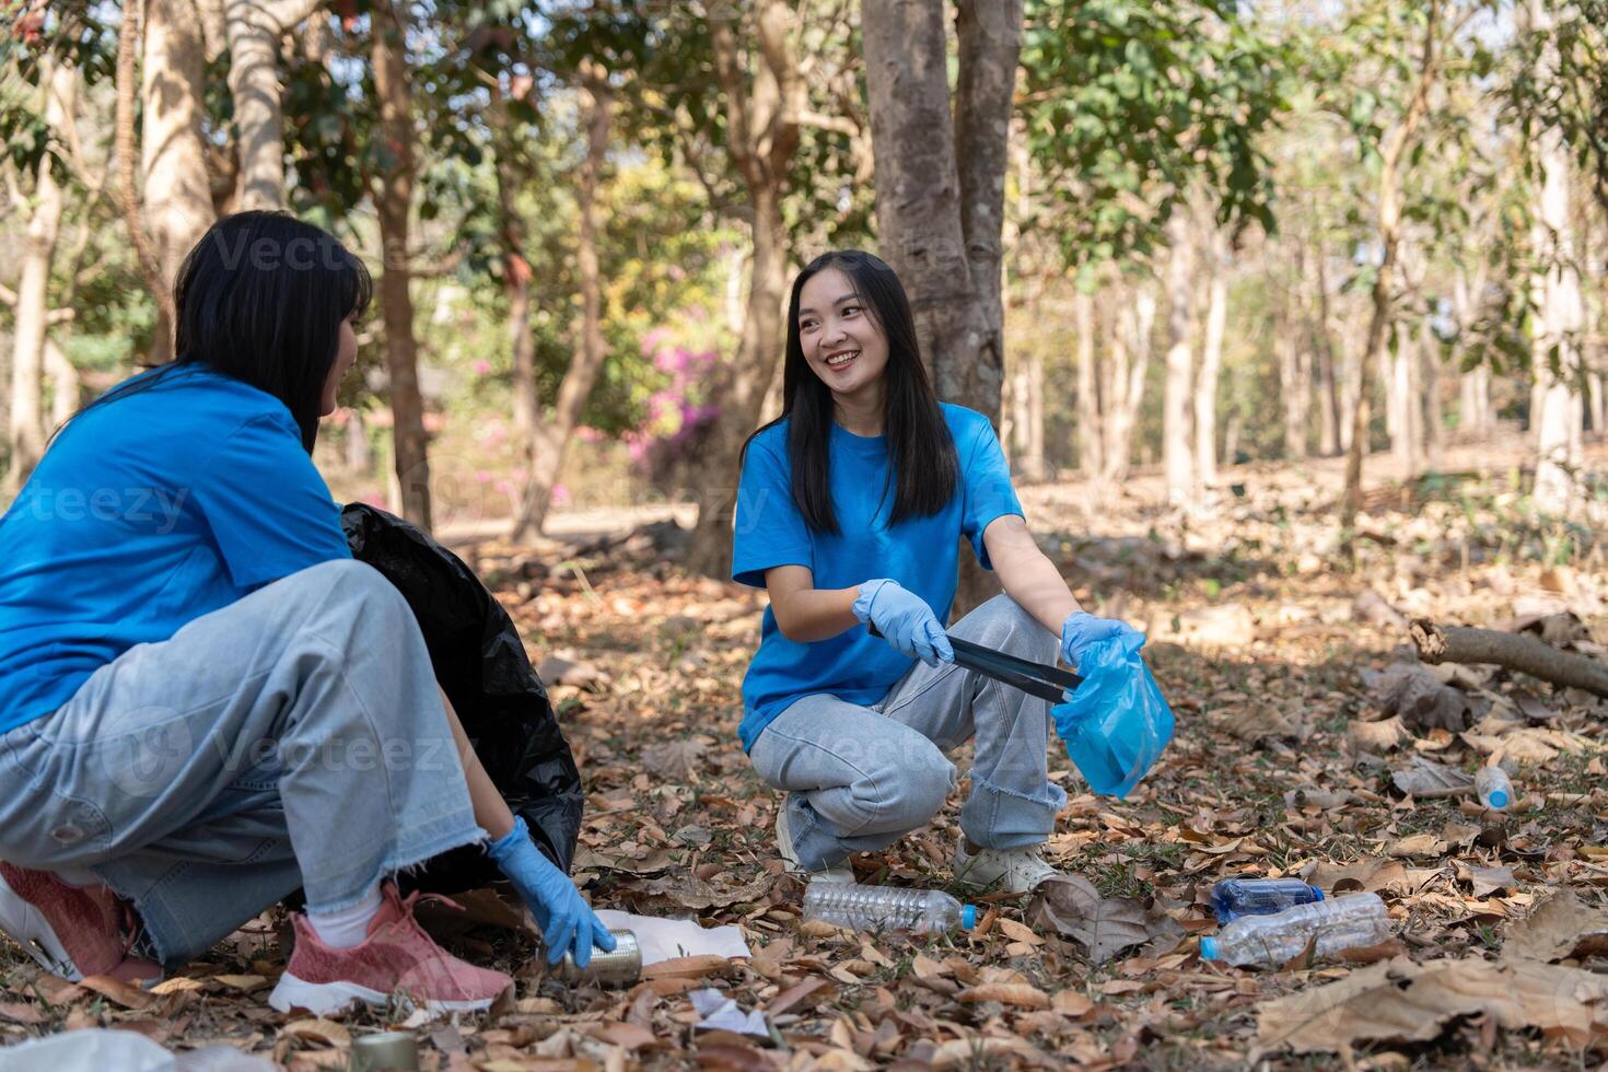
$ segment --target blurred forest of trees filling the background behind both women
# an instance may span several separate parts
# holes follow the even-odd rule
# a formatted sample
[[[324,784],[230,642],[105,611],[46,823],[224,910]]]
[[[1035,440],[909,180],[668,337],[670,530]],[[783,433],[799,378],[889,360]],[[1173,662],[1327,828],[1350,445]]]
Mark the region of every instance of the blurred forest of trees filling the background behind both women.
[[[698,508],[778,411],[791,275],[899,268],[946,399],[1019,479],[1251,460],[1420,481],[1528,437],[1608,489],[1608,3],[0,0],[0,463],[170,355],[222,212],[286,207],[378,284],[336,492],[527,538]],[[1370,455],[1375,455],[1370,458]],[[691,518],[687,518],[691,522]]]

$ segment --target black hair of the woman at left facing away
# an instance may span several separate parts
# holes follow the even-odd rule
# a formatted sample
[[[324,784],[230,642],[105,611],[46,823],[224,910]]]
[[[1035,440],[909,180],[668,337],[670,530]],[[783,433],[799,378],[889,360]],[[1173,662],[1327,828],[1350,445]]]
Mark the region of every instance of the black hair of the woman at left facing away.
[[[174,360],[72,416],[159,387],[177,368],[206,365],[283,402],[312,453],[341,321],[360,317],[371,297],[368,268],[323,228],[289,212],[225,215],[178,268]]]

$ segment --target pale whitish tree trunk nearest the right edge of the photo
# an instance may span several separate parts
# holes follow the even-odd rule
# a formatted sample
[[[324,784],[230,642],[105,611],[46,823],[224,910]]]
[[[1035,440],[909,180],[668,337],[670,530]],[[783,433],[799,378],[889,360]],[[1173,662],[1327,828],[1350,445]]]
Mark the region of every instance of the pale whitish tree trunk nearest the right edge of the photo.
[[[1552,29],[1547,0],[1529,0],[1531,32]],[[1557,66],[1555,47],[1547,45],[1540,59],[1540,80]],[[1536,508],[1547,514],[1568,516],[1581,505],[1584,407],[1577,391],[1581,376],[1579,329],[1584,325],[1581,281],[1574,268],[1574,238],[1569,220],[1569,156],[1563,132],[1539,132],[1542,183],[1536,204],[1532,243],[1545,270],[1534,281],[1531,366],[1539,389],[1539,413],[1532,415],[1536,440]]]

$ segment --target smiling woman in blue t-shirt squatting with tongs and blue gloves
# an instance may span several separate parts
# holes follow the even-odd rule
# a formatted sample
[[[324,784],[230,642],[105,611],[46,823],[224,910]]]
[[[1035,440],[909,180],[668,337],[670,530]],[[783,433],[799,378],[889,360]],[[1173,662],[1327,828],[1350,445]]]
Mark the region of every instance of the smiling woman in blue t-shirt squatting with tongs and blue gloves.
[[[934,397],[892,268],[817,257],[793,283],[783,413],[745,448],[732,556],[733,579],[770,595],[738,733],[786,791],[778,847],[810,881],[852,882],[851,853],[931,820],[957,781],[946,754],[968,739],[955,876],[1024,892],[1055,874],[1039,853],[1066,804],[1048,704],[957,667],[944,632],[962,537],[1005,593],[955,636],[1076,667],[1132,632],[1077,608],[987,418]]]

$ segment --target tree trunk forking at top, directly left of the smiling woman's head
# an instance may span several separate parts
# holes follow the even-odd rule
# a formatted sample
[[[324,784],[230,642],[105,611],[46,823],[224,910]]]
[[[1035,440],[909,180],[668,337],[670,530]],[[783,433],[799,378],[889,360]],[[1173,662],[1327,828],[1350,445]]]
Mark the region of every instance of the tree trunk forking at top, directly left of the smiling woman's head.
[[[716,419],[703,463],[693,474],[699,492],[687,569],[727,579],[732,572],[732,519],[736,505],[738,455],[759,421],[781,350],[781,304],[786,294],[786,223],[781,190],[799,140],[806,85],[796,51],[794,11],[783,0],[762,0],[756,23],[757,56],[745,80],[735,6],[711,10],[716,79],[727,119],[727,151],[748,191],[754,249],[736,357],[717,371]]]

